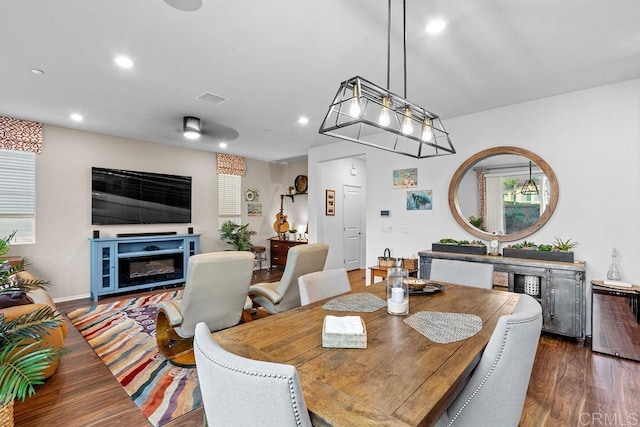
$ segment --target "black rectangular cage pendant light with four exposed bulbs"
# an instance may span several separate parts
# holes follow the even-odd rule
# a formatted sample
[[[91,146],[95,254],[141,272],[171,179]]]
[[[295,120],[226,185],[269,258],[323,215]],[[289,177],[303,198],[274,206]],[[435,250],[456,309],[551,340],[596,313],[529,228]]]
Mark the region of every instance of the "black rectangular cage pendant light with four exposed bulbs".
[[[358,76],[340,84],[320,133],[418,159],[456,152],[437,115]]]

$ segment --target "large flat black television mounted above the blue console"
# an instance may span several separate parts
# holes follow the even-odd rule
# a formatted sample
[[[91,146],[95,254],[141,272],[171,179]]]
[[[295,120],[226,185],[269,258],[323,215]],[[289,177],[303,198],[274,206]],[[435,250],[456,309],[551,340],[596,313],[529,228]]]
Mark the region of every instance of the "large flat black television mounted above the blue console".
[[[91,224],[190,222],[190,176],[91,168]]]

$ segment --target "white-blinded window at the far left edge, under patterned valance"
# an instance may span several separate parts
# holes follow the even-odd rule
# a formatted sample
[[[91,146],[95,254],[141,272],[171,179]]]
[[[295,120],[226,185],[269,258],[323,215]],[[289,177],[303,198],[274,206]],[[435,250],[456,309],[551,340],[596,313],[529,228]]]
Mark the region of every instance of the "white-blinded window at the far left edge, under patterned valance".
[[[0,150],[0,236],[11,244],[36,241],[36,154]]]

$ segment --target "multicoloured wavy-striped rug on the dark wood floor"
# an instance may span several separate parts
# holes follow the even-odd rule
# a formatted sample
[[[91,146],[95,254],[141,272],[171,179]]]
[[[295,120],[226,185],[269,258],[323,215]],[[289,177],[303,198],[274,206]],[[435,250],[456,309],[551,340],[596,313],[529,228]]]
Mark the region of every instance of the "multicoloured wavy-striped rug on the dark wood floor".
[[[182,290],[177,290],[67,313],[154,426],[202,406],[195,368],[173,366],[156,345],[158,303],[181,297]]]

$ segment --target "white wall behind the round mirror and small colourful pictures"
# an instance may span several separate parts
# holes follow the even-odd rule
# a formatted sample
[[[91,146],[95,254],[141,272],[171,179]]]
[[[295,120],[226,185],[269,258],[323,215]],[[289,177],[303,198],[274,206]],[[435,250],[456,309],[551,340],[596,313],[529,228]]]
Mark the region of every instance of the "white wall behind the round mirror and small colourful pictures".
[[[437,106],[429,107],[437,111]],[[588,281],[606,276],[615,247],[623,278],[640,282],[640,80],[452,118],[444,125],[456,155],[417,160],[345,141],[309,151],[311,176],[316,163],[366,153],[368,265],[386,247],[394,256],[406,256],[430,249],[442,237],[472,238],[449,211],[451,177],[478,151],[513,145],[544,158],[560,185],[556,212],[527,240],[579,241],[576,258],[587,262]],[[433,190],[431,211],[407,211],[406,190],[392,187],[393,170],[411,167],[418,168],[418,188]],[[320,206],[310,203],[309,209],[315,223]],[[391,218],[381,218],[381,209],[391,210]],[[381,232],[386,226],[392,232]],[[417,233],[400,233],[405,226],[417,227]]]

